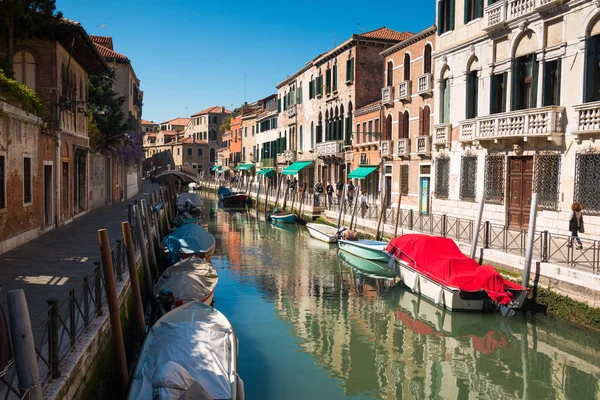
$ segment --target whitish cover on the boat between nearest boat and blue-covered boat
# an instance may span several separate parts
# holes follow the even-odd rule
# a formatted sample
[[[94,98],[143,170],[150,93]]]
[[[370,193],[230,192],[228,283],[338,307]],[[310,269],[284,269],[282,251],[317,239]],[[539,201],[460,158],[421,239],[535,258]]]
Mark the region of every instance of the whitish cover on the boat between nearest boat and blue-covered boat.
[[[218,281],[217,270],[210,262],[190,257],[163,272],[154,286],[154,297],[163,289],[171,289],[175,299],[183,300],[184,303],[202,301],[215,290]]]

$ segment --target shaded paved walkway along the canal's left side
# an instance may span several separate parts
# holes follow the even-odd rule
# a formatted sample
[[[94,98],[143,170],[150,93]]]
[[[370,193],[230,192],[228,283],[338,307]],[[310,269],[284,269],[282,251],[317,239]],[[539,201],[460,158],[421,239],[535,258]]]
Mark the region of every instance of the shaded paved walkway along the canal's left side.
[[[103,207],[53,229],[35,240],[0,255],[0,306],[6,307],[6,292],[23,289],[29,314],[35,319],[46,308],[46,300],[59,297],[81,283],[95,261],[100,261],[98,229],[108,229],[114,244],[121,239],[121,222],[129,216],[128,204],[145,198],[158,188],[144,181],[142,192],[128,202]]]

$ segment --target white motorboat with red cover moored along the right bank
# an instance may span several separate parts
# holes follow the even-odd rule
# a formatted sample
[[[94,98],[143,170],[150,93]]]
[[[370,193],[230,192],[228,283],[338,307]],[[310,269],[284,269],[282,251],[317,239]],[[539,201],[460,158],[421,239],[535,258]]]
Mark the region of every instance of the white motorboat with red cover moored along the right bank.
[[[386,251],[388,267],[406,286],[448,310],[499,310],[509,316],[527,297],[525,287],[465,256],[449,238],[402,235],[392,239]]]

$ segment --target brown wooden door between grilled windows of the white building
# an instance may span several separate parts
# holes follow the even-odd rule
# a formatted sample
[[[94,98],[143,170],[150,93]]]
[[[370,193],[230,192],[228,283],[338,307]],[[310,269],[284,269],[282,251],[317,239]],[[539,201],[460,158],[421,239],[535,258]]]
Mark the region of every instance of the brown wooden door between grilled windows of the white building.
[[[529,209],[533,188],[533,157],[509,158],[508,226],[525,228],[529,224]]]

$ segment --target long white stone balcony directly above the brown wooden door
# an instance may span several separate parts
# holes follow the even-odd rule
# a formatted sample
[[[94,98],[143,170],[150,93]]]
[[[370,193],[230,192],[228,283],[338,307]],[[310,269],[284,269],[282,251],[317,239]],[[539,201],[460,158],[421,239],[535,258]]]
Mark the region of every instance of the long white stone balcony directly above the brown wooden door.
[[[460,141],[497,142],[501,139],[542,138],[546,141],[562,144],[565,135],[564,107],[541,107],[511,111],[462,121],[460,123]]]

